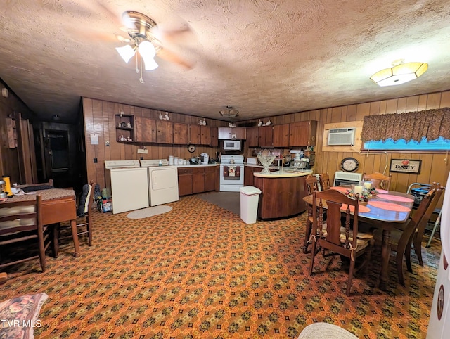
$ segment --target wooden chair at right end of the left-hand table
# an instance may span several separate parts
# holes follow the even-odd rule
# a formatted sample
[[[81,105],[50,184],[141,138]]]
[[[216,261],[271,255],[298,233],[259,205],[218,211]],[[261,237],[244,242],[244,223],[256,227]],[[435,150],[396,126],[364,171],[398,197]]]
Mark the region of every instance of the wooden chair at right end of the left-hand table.
[[[91,215],[91,203],[92,195],[94,193],[94,181],[91,180],[89,184],[84,184],[82,188],[82,194],[79,196],[79,201],[77,205],[77,234],[78,236],[83,236],[87,234],[87,243],[89,246],[92,245],[92,215]],[[61,240],[66,238],[72,238],[70,231],[66,231],[65,235],[61,236],[61,229],[70,229],[70,224],[58,224],[58,230],[55,234],[56,253],[59,250],[59,243]],[[78,231],[79,230],[79,231]]]

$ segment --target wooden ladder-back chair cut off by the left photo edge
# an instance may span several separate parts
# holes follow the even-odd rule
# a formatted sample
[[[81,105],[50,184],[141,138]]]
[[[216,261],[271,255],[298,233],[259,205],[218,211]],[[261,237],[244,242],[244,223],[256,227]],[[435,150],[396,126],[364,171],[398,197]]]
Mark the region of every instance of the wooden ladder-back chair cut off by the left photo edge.
[[[45,271],[45,250],[48,247],[45,243],[48,235],[44,234],[46,228],[42,225],[41,205],[40,195],[37,195],[34,200],[7,200],[0,203],[0,246],[36,239],[39,249],[39,255],[30,252],[27,256],[27,253],[23,253],[23,257],[0,263],[0,268],[39,258],[42,271]]]

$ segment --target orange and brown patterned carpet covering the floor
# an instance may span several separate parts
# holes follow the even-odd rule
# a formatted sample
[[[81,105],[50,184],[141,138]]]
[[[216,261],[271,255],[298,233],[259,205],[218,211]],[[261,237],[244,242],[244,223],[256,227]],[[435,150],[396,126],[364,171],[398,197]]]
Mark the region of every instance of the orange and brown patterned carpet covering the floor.
[[[425,338],[440,243],[413,255],[406,288],[380,291],[380,252],[345,296],[347,272],[338,257],[319,255],[309,276],[302,253],[304,219],[245,224],[196,196],[168,204],[147,219],[94,212],[94,245],[72,246],[16,270],[27,274],[0,286],[0,301],[49,295],[36,338],[297,338],[316,321],[337,324],[359,338]],[[393,252],[394,254],[394,252]],[[328,264],[328,266],[327,266]],[[326,269],[326,271],[325,271]]]

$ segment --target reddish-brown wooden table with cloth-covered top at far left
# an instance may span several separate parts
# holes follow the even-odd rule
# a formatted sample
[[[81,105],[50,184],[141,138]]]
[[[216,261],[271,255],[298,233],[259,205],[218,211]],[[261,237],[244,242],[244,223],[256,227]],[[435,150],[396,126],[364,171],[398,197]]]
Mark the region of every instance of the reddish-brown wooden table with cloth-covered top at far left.
[[[75,257],[79,257],[79,242],[77,234],[77,203],[75,201],[75,191],[72,189],[51,188],[37,191],[42,197],[42,224],[56,224],[58,222],[70,221],[72,230]],[[36,194],[24,194],[23,196],[13,196],[10,201],[35,200]]]

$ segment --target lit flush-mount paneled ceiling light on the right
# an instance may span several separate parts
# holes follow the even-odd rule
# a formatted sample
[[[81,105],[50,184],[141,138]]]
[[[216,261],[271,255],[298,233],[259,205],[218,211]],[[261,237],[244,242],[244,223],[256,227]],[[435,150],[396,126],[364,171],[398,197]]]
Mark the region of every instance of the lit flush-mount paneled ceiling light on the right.
[[[371,76],[378,86],[393,86],[410,82],[428,70],[428,63],[393,63],[391,68],[380,70]]]

